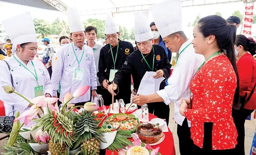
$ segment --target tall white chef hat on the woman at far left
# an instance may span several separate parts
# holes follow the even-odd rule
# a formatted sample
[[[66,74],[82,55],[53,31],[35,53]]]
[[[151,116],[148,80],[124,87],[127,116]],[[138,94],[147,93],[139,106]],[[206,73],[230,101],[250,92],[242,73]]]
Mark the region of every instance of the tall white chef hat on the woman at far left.
[[[17,44],[37,42],[37,34],[30,12],[3,20],[2,24],[13,42],[13,52],[16,51]]]

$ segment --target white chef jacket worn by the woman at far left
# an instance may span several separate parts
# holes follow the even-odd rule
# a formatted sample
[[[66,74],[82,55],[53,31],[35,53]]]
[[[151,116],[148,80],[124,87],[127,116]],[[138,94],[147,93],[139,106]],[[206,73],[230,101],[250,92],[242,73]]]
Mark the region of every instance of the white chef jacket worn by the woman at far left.
[[[34,67],[31,61],[26,65],[18,56],[15,54],[15,57],[23,63],[27,68],[35,73]],[[14,79],[14,88],[15,91],[27,97],[29,100],[35,97],[34,88],[38,86],[35,76],[24,68],[13,56],[5,59],[11,66],[11,73]],[[52,94],[52,84],[50,81],[50,75],[44,66],[44,64],[37,59],[33,60],[39,85],[44,86],[44,94]],[[6,93],[3,86],[11,85],[11,74],[9,68],[5,61],[0,60],[0,100],[4,102],[6,115],[12,116],[12,105],[14,105],[15,114],[17,111],[20,111],[20,114],[25,110],[29,109],[29,102],[15,93]],[[35,123],[35,122],[34,122]]]

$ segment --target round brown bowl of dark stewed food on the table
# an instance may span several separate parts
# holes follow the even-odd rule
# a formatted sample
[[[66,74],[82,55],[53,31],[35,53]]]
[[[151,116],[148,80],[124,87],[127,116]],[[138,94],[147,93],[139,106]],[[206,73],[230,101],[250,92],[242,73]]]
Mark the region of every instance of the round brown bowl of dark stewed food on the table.
[[[147,123],[137,127],[136,133],[144,143],[156,143],[163,136],[162,128],[158,125]]]

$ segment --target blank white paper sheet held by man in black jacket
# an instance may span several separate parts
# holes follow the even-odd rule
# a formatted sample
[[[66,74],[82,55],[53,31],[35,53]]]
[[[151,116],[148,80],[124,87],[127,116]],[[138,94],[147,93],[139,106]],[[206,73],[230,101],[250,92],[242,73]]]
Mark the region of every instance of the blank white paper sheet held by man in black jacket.
[[[161,82],[164,77],[154,78],[156,74],[154,71],[147,71],[142,78],[137,94],[149,95],[156,93],[159,90]]]

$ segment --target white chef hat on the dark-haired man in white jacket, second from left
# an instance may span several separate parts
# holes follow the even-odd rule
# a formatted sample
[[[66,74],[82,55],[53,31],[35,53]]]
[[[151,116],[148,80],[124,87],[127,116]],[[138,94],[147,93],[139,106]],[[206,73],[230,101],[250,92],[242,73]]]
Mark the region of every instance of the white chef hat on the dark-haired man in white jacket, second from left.
[[[76,6],[67,7],[68,25],[70,32],[84,31],[83,22],[80,18],[79,12]]]

